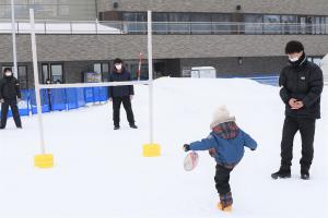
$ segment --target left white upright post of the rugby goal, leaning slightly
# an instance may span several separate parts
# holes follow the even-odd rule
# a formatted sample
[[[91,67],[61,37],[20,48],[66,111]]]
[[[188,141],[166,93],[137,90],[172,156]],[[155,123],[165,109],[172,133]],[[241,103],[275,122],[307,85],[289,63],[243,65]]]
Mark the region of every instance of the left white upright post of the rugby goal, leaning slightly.
[[[45,147],[44,124],[43,124],[40,96],[39,96],[37,52],[36,52],[36,39],[35,39],[35,23],[34,23],[34,9],[30,9],[30,24],[31,24],[33,71],[34,71],[34,84],[35,84],[36,106],[37,106],[37,119],[38,119],[38,130],[39,130],[39,140],[40,140],[40,150],[42,150],[42,154],[44,155],[44,154],[46,154],[46,147]]]

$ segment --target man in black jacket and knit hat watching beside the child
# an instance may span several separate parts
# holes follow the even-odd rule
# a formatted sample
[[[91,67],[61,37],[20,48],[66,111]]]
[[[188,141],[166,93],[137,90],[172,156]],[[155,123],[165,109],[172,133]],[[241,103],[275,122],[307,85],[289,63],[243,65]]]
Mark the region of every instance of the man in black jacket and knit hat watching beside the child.
[[[286,44],[290,64],[280,74],[280,96],[285,104],[285,120],[281,141],[281,166],[273,179],[290,178],[293,158],[293,141],[297,131],[302,138],[301,178],[309,179],[314,154],[316,119],[320,119],[320,95],[324,88],[320,68],[307,61],[300,41]]]

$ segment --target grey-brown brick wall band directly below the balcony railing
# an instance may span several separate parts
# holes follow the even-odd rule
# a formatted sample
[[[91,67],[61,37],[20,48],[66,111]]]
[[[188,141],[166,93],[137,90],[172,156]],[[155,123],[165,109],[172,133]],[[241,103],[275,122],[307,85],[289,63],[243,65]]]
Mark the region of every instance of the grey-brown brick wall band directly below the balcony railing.
[[[304,43],[309,56],[328,51],[327,36],[156,35],[154,59],[283,56],[289,40]],[[37,35],[38,61],[138,59],[147,57],[144,35]],[[17,60],[32,61],[31,37],[17,35]],[[11,35],[0,35],[0,62],[12,61]]]

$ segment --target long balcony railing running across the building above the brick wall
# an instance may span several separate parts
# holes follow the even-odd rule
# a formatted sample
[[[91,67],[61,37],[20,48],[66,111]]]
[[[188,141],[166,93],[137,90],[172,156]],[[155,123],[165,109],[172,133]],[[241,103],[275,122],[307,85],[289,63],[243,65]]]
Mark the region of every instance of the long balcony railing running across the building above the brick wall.
[[[328,24],[153,22],[157,35],[328,35]],[[16,22],[17,34],[30,33],[30,22]],[[147,22],[37,21],[36,34],[147,34]],[[0,21],[0,34],[10,34],[10,21]]]

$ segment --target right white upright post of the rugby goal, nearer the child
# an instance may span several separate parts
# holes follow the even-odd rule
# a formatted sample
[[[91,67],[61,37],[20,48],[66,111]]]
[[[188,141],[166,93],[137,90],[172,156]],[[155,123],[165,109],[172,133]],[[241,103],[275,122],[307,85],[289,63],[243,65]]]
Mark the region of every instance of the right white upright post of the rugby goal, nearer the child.
[[[150,144],[153,144],[153,48],[152,48],[152,12],[148,11],[148,73],[149,73],[149,122]]]

